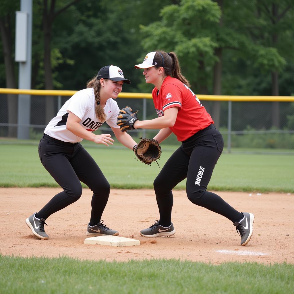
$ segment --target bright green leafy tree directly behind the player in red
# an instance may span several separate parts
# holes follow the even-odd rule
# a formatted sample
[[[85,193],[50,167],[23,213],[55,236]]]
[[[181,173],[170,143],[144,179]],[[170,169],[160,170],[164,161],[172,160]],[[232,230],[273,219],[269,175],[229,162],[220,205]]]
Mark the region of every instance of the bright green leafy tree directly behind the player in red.
[[[221,95],[223,39],[223,1],[183,0],[179,5],[166,6],[162,21],[143,27],[148,34],[146,47],[156,43],[168,51],[176,51],[193,91]],[[211,70],[213,68],[213,71]],[[213,82],[211,82],[213,80]],[[219,126],[220,103],[213,103],[212,117]]]

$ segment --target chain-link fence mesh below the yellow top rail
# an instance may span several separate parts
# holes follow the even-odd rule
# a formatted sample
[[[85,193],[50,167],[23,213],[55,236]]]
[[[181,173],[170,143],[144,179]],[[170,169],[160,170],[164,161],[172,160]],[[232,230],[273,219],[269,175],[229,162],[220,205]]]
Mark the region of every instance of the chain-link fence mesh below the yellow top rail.
[[[47,123],[56,115],[69,96],[30,96],[28,123],[18,124],[17,94],[0,94],[0,137],[17,138],[18,128],[28,128],[29,139],[39,140]],[[294,153],[294,102],[235,102],[201,99],[223,134],[228,152],[282,152]],[[117,98],[119,108],[126,105],[139,110],[140,120],[156,118],[153,101],[149,98]],[[215,115],[215,117],[214,117]],[[111,133],[106,123],[96,133]],[[158,130],[128,131],[135,138],[152,138]],[[179,144],[171,135],[166,144]]]

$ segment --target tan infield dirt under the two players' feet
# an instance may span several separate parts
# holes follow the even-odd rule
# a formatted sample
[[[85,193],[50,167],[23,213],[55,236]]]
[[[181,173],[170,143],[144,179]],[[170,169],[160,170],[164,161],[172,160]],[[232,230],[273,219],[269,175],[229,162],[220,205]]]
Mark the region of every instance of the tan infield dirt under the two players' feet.
[[[172,221],[176,234],[144,238],[143,228],[159,217],[153,190],[112,189],[102,219],[122,237],[141,245],[112,247],[84,244],[91,213],[92,193],[83,189],[74,204],[50,216],[45,226],[48,240],[39,240],[26,218],[40,210],[60,188],[0,188],[0,252],[4,255],[58,257],[106,261],[175,258],[213,264],[226,261],[294,263],[294,194],[217,192],[238,211],[255,215],[253,236],[240,246],[240,235],[223,216],[191,203],[185,191],[173,191]]]

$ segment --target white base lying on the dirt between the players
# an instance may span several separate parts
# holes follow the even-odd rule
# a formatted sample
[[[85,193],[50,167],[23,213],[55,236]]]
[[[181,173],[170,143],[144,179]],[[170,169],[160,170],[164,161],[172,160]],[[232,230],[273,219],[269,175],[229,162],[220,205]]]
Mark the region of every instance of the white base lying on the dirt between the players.
[[[140,245],[140,241],[130,239],[130,238],[119,237],[119,236],[98,236],[98,237],[86,238],[84,241],[84,244],[99,244],[99,245],[123,247],[123,246]]]

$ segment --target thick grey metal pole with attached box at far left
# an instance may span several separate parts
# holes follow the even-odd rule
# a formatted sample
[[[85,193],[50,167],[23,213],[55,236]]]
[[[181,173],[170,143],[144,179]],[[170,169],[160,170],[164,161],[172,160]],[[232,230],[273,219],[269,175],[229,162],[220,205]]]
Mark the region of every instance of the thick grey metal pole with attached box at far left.
[[[32,0],[21,0],[21,12],[27,15],[27,34],[16,34],[19,42],[26,43],[26,56],[19,62],[19,89],[31,89],[32,64]],[[19,49],[19,48],[18,48]],[[23,49],[23,50],[25,50]],[[17,51],[19,53],[19,51]],[[18,61],[18,60],[16,60]],[[20,94],[18,97],[18,139],[29,139],[29,124],[31,116],[31,96]]]

